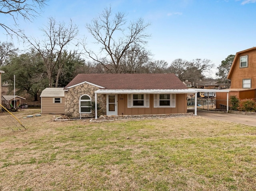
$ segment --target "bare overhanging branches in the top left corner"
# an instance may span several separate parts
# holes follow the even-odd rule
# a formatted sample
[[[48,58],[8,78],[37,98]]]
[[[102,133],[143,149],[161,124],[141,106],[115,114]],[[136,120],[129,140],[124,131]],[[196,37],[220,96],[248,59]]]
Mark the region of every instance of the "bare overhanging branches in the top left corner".
[[[18,25],[18,17],[21,16],[24,20],[32,21],[40,10],[46,5],[47,0],[0,0],[0,13],[7,14],[12,17],[15,25]],[[11,26],[8,26],[4,21],[0,21],[0,26],[12,35],[17,34]]]

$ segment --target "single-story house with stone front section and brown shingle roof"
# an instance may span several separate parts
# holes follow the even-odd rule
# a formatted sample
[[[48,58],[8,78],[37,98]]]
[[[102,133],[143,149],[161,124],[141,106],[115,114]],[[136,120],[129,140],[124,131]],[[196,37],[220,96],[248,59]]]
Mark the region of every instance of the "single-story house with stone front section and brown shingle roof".
[[[64,90],[65,115],[74,118],[94,116],[95,102],[96,117],[186,113],[187,94],[196,93],[174,74],[78,74]]]

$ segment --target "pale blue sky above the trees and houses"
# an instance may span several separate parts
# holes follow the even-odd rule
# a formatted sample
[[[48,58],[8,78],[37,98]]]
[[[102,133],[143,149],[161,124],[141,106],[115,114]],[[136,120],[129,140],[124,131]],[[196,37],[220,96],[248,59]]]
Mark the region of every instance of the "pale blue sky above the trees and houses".
[[[256,0],[49,0],[47,4],[32,23],[19,20],[29,36],[41,38],[38,28],[47,25],[49,17],[59,22],[71,18],[80,37],[91,42],[85,24],[111,5],[113,12],[125,12],[127,20],[143,18],[151,23],[146,48],[154,60],[170,64],[177,58],[206,58],[215,64],[215,74],[228,55],[256,46]],[[0,20],[13,24],[5,15]],[[0,41],[10,41],[3,33],[0,29]],[[22,42],[13,42],[23,49]]]

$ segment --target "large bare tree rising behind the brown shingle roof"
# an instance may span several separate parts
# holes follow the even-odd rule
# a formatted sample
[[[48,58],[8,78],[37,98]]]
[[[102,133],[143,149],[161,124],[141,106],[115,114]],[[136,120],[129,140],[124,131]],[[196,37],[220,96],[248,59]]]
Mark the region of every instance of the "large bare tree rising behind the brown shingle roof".
[[[150,37],[146,33],[149,23],[139,18],[135,22],[126,24],[125,16],[121,12],[112,16],[111,8],[105,8],[102,14],[92,19],[91,24],[86,24],[96,44],[101,46],[100,52],[96,53],[86,48],[84,43],[87,56],[111,73],[122,73],[122,58],[128,55],[132,48],[146,45]]]

